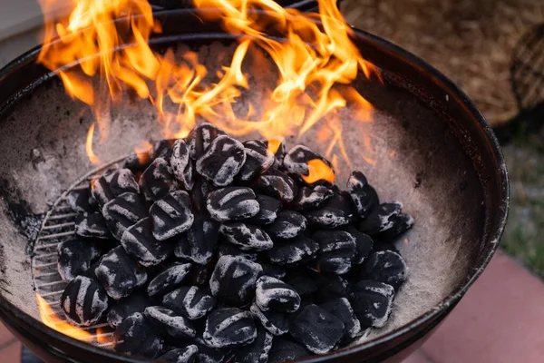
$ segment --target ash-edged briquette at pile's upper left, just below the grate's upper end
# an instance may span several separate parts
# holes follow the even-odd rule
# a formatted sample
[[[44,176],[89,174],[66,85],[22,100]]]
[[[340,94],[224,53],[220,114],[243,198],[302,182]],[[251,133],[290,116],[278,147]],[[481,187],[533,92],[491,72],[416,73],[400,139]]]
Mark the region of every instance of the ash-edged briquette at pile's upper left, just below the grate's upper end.
[[[92,180],[92,196],[100,206],[114,200],[125,192],[140,192],[134,174],[128,169],[105,172],[100,178]]]

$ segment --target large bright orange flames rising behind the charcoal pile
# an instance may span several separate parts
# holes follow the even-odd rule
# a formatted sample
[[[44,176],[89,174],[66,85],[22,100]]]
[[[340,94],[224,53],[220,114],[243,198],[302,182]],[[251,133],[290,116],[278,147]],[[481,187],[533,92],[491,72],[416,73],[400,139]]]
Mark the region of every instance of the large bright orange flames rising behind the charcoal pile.
[[[284,9],[273,0],[194,0],[199,9],[217,9],[201,11],[204,20],[218,21],[228,33],[240,35],[229,64],[220,71],[209,71],[194,52],[154,52],[148,41],[160,32],[160,24],[145,0],[71,0],[72,12],[62,19],[51,14],[65,0],[39,2],[46,26],[38,62],[60,76],[67,93],[92,107],[102,141],[110,127],[111,104],[121,103],[128,89],[153,103],[165,137],[186,136],[198,120],[235,136],[257,131],[267,140],[302,135],[320,123],[330,129],[324,141],[329,142],[327,153],[338,148],[347,162],[338,110],[353,107],[364,122],[372,117],[372,105],[349,84],[360,73],[380,75],[352,43],[353,31],[335,0],[318,0],[319,14]],[[270,32],[285,39],[267,36]],[[277,74],[276,83],[272,80],[258,104],[249,103],[240,112],[235,104],[250,87],[248,74],[264,69]],[[100,87],[93,87],[96,79]],[[89,158],[98,162],[89,138]],[[275,145],[269,142],[270,151]]]

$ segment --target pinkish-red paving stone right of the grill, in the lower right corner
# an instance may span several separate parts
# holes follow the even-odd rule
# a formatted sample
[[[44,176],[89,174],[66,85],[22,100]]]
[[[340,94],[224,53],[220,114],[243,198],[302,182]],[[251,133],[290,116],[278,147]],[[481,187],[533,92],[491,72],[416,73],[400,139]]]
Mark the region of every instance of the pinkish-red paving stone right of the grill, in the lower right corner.
[[[498,251],[423,345],[435,363],[544,362],[544,283]]]

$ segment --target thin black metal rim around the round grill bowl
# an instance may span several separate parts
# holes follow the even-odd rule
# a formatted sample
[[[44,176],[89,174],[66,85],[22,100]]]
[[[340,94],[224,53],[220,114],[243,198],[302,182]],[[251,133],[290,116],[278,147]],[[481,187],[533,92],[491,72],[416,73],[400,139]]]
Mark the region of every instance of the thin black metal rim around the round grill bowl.
[[[214,11],[214,9],[204,9],[205,11]],[[215,10],[217,11],[217,10]],[[179,9],[179,10],[170,10],[170,11],[160,11],[155,14],[158,18],[167,18],[170,16],[183,16],[183,15],[194,15],[194,11],[189,9]],[[317,23],[317,22],[316,22]],[[364,32],[362,30],[358,30],[353,28],[354,34],[355,34],[355,41],[356,43],[364,44],[365,46],[375,48],[380,52],[383,52],[385,54],[390,54],[393,56],[393,58],[398,58],[400,61],[402,61],[404,64],[409,65],[410,67],[419,70],[423,74],[425,74],[426,77],[432,80],[433,83],[435,83],[438,87],[440,87],[444,93],[448,94],[451,98],[451,102],[458,103],[461,105],[465,110],[465,113],[467,116],[471,117],[472,123],[475,123],[478,127],[478,131],[481,132],[481,136],[485,139],[486,142],[488,142],[485,146],[487,147],[487,152],[491,153],[492,161],[495,163],[495,171],[496,176],[499,182],[499,185],[491,186],[497,189],[497,192],[500,193],[500,201],[494,201],[497,203],[497,205],[492,206],[493,211],[495,212],[495,215],[493,216],[493,221],[491,223],[491,233],[485,233],[482,237],[481,243],[483,244],[491,245],[491,247],[487,248],[487,251],[484,255],[479,256],[479,259],[476,261],[475,268],[472,268],[472,270],[468,273],[468,278],[457,288],[455,289],[450,295],[448,295],[446,298],[442,299],[442,302],[438,304],[434,309],[424,313],[420,317],[413,319],[410,323],[404,325],[403,327],[400,327],[398,329],[395,329],[391,331],[388,334],[385,334],[384,336],[373,338],[371,340],[368,340],[358,346],[352,347],[352,348],[342,348],[339,350],[336,350],[332,353],[329,353],[325,356],[320,357],[312,357],[312,358],[306,358],[306,359],[300,359],[297,361],[305,361],[305,362],[323,362],[323,361],[330,361],[330,360],[336,360],[341,358],[348,358],[349,356],[355,355],[356,353],[361,353],[364,350],[375,348],[381,345],[384,345],[384,351],[388,350],[389,348],[386,347],[387,343],[394,344],[394,340],[398,338],[403,338],[403,335],[409,333],[410,331],[417,331],[415,334],[419,334],[419,338],[422,338],[423,335],[427,333],[429,330],[425,328],[429,328],[431,325],[436,325],[440,320],[445,318],[445,316],[451,311],[451,309],[459,302],[459,300],[462,298],[462,296],[466,293],[466,291],[471,287],[471,285],[474,283],[475,280],[477,280],[481,272],[485,269],[485,267],[490,262],[495,250],[497,250],[499,246],[500,238],[502,237],[504,227],[506,224],[506,220],[508,218],[508,211],[510,207],[510,185],[509,185],[509,177],[508,177],[508,171],[506,169],[506,165],[504,162],[503,154],[500,150],[499,142],[491,130],[491,126],[489,123],[487,123],[485,117],[483,114],[478,110],[476,105],[471,102],[471,100],[468,98],[468,96],[461,91],[461,89],[453,83],[450,79],[448,79],[445,75],[441,74],[438,70],[436,70],[432,65],[427,64],[423,59],[417,57],[414,54],[411,54],[410,52],[404,50],[403,48],[400,48],[399,46],[392,44],[378,36],[375,36],[374,34],[369,34],[367,32]],[[154,37],[151,44],[158,44],[158,43],[168,43],[169,41],[175,40],[182,42],[184,40],[207,40],[210,39],[236,39],[237,36],[230,35],[230,34],[224,34],[224,33],[198,33],[198,34],[177,34],[177,35],[165,35],[165,36],[158,36]],[[41,46],[37,46],[34,49],[26,52],[25,54],[21,55],[19,58],[15,59],[10,64],[7,64],[4,69],[0,71],[0,83],[5,82],[5,79],[9,78],[10,75],[15,74],[15,72],[24,67],[25,65],[34,63],[35,59],[37,58],[37,55],[39,54],[41,50]],[[35,65],[35,64],[34,64]],[[34,82],[31,86],[25,87],[24,89],[21,89],[19,93],[16,93],[14,97],[8,99],[4,104],[3,107],[0,108],[0,113],[4,113],[5,109],[9,107],[11,104],[15,103],[17,100],[19,100],[21,97],[28,93],[32,93],[34,89],[39,86],[40,84],[44,83],[45,81],[49,80],[54,76],[53,72],[46,71],[44,72],[44,68],[38,64],[39,67],[42,69],[42,74],[38,77],[34,78]],[[38,73],[36,71],[36,73]],[[472,157],[473,158],[473,157]],[[474,165],[476,168],[476,165]],[[485,184],[481,180],[482,184]],[[485,186],[482,185],[482,188],[484,188],[483,194],[485,196],[488,196],[491,191],[485,190]],[[489,202],[486,202],[486,213],[490,213],[490,205]],[[490,221],[488,221],[486,224],[489,224]],[[489,227],[489,226],[484,226]],[[28,328],[31,329],[37,329],[41,335],[49,336],[52,338],[55,338],[57,340],[60,340],[63,342],[63,345],[66,347],[74,347],[83,349],[84,351],[90,351],[93,354],[97,355],[98,357],[102,358],[111,358],[111,359],[119,359],[122,358],[126,362],[131,363],[142,363],[142,362],[151,362],[150,359],[138,359],[138,358],[131,358],[128,356],[122,356],[117,353],[112,353],[106,349],[98,348],[95,346],[92,346],[91,344],[85,343],[81,340],[77,340],[75,338],[69,338],[67,336],[64,336],[63,334],[48,328],[45,326],[42,322],[38,321],[37,319],[34,319],[27,314],[25,314],[21,309],[17,308],[15,305],[13,305],[11,302],[7,301],[6,299],[0,297],[0,317],[5,320],[12,320],[9,319],[9,315],[6,316],[6,314],[11,314],[11,317],[15,317],[17,319],[23,320],[25,325],[27,325]],[[19,324],[17,324],[19,325]],[[28,329],[25,329],[24,335],[28,336],[29,331]],[[423,332],[423,334],[422,334]],[[406,337],[406,341],[409,337]],[[382,354],[384,352],[381,352]],[[396,353],[396,352],[393,352]],[[389,355],[390,356],[390,355]],[[384,357],[388,357],[385,355]]]

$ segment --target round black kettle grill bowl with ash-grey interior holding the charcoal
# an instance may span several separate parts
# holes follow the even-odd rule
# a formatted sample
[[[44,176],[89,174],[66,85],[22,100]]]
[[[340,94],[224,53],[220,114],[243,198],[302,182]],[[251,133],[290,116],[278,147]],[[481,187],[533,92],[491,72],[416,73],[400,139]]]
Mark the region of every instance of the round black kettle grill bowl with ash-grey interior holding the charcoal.
[[[189,10],[156,16],[163,33],[151,43],[159,48],[225,48],[222,44],[234,40]],[[222,44],[209,45],[217,41]],[[345,143],[353,169],[364,171],[381,200],[403,201],[414,217],[413,230],[397,241],[410,277],[384,329],[350,348],[304,359],[308,362],[407,357],[481,275],[497,249],[509,207],[499,144],[471,100],[413,54],[357,30],[354,41],[384,78],[384,83],[375,78],[356,83],[376,109],[374,165],[361,156],[360,123],[346,126]],[[0,318],[47,362],[146,361],[68,338],[39,319],[26,250],[32,250],[40,218],[51,203],[92,169],[83,145],[92,116],[64,94],[54,74],[35,64],[38,53],[34,49],[0,71]],[[149,103],[131,99],[113,113],[119,119],[111,132],[115,142],[102,150],[109,160],[157,136]],[[326,145],[313,142],[315,136],[309,132],[302,142],[321,151]],[[339,179],[345,182],[349,171],[340,169]]]

